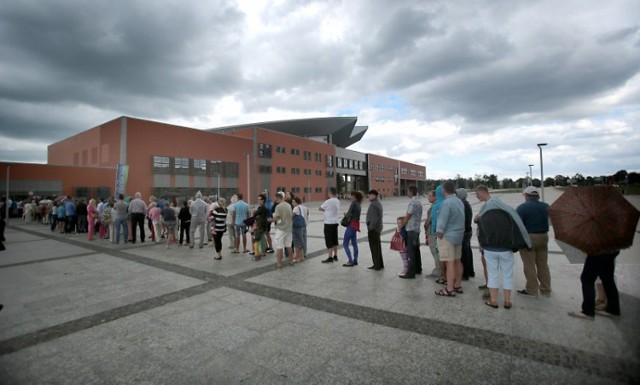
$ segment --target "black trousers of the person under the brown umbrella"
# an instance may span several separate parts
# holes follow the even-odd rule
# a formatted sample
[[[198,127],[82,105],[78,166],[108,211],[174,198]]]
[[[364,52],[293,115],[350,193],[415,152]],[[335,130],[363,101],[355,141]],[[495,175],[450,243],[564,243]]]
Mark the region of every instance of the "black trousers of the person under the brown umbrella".
[[[582,312],[589,316],[596,313],[596,279],[600,277],[602,287],[607,295],[607,312],[620,315],[620,297],[613,276],[616,269],[618,253],[588,256],[582,268]]]

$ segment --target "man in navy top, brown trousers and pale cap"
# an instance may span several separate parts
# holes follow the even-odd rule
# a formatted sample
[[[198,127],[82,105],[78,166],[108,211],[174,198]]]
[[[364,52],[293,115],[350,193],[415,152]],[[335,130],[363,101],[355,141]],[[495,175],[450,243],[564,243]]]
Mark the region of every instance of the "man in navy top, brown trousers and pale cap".
[[[551,295],[551,273],[549,272],[549,205],[540,202],[538,189],[529,186],[524,190],[525,202],[516,211],[527,228],[531,238],[531,249],[520,249],[525,288],[518,294],[535,297],[540,294]]]

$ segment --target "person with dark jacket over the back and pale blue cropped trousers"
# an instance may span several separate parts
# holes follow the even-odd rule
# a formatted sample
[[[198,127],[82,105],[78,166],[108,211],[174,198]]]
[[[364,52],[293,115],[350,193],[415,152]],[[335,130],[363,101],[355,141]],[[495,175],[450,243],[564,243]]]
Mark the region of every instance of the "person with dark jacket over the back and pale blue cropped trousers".
[[[476,195],[481,202],[487,202],[478,213],[478,241],[484,250],[487,263],[489,300],[492,308],[498,307],[499,278],[502,274],[504,308],[511,308],[513,290],[514,251],[531,247],[531,239],[522,219],[514,208],[499,199],[490,198],[489,189],[480,185]]]

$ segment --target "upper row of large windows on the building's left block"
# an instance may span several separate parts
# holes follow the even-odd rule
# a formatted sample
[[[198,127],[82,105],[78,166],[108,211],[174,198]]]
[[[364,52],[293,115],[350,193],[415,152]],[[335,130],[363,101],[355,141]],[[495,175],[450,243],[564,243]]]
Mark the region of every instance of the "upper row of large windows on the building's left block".
[[[237,177],[239,165],[236,162],[220,160],[173,158],[168,156],[153,157],[153,172],[156,174],[183,174]]]

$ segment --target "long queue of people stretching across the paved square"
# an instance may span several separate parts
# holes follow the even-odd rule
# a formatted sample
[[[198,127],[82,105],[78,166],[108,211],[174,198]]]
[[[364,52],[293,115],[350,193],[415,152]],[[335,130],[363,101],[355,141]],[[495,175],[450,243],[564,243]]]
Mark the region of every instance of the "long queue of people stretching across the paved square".
[[[487,306],[499,307],[498,293],[502,288],[503,307],[512,307],[515,252],[520,253],[526,278],[525,287],[517,293],[526,297],[550,296],[551,274],[547,262],[549,206],[539,200],[538,189],[527,187],[523,194],[525,202],[517,209],[492,198],[485,186],[478,186],[475,192],[477,199],[484,204],[472,218],[466,189],[456,189],[452,182],[438,186],[427,195],[430,206],[423,222],[423,205],[418,190],[415,186],[408,187],[407,210],[397,219],[396,234],[392,240],[392,249],[399,251],[403,261],[403,269],[398,276],[415,279],[422,274],[420,229],[423,228],[424,242],[429,246],[435,266],[426,277],[443,285],[435,295],[455,297],[463,294],[463,282],[475,276],[471,248],[472,223],[475,223],[485,279],[485,284],[478,288],[483,290]],[[39,212],[37,220],[50,225],[51,231],[87,233],[89,240],[99,237],[115,244],[136,243],[138,239],[145,242],[147,231],[152,242],[164,242],[166,248],[188,245],[192,249],[197,240],[199,248],[205,244],[215,247],[214,260],[223,258],[222,238],[226,233],[232,254],[249,254],[258,261],[269,253],[275,253],[278,268],[282,267],[285,257],[292,265],[304,262],[309,209],[300,197],[291,192],[279,191],[273,198],[271,201],[265,191],[257,197],[258,203],[252,209],[241,193],[234,194],[227,203],[225,198],[203,197],[198,192],[181,204],[176,198],[164,200],[154,196],[145,202],[140,193],[136,193],[132,200],[120,195],[116,200],[90,199],[88,203],[68,196],[44,205],[25,204],[23,220],[27,223],[35,221],[36,212]],[[342,248],[347,260],[342,266],[358,266],[357,234],[361,231],[364,194],[352,191],[349,199],[348,210],[341,213],[337,191],[330,188],[328,199],[319,207],[323,214],[323,234],[328,253],[322,263],[338,262],[338,230],[343,226]],[[372,265],[367,269],[379,271],[384,269],[380,239],[383,207],[376,190],[368,191],[367,199],[369,207],[365,225],[372,257]],[[275,228],[273,238],[272,227]],[[2,240],[0,238],[0,247]],[[620,315],[618,291],[613,279],[616,255],[588,256],[581,277],[582,310],[571,312],[571,316],[593,319],[596,313]],[[595,298],[597,278],[602,282],[598,298]]]

